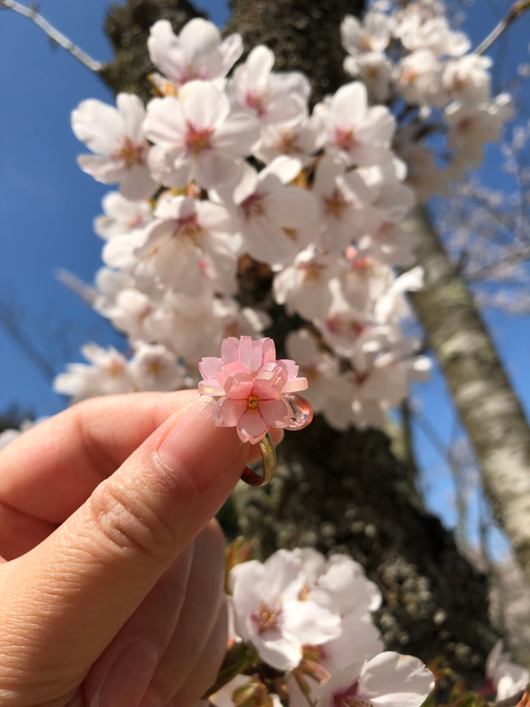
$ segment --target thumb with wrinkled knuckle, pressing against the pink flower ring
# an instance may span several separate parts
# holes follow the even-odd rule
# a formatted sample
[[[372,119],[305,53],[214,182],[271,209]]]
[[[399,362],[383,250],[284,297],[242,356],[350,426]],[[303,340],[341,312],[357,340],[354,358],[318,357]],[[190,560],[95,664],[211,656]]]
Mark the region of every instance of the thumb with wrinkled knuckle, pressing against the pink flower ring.
[[[211,400],[175,417],[44,542],[1,568],[9,668],[0,661],[0,693],[20,671],[44,671],[48,684],[71,679],[74,689],[234,488],[248,445],[215,427]]]

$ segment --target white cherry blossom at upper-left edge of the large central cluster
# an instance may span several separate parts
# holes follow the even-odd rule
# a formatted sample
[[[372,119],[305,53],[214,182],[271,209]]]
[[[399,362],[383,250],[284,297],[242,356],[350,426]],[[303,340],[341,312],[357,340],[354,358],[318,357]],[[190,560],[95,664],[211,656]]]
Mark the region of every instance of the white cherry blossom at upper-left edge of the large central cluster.
[[[95,152],[78,157],[79,167],[98,182],[119,182],[121,194],[134,201],[150,197],[156,188],[147,167],[144,119],[142,101],[131,94],[119,94],[115,108],[89,99],[72,113],[75,137]]]

